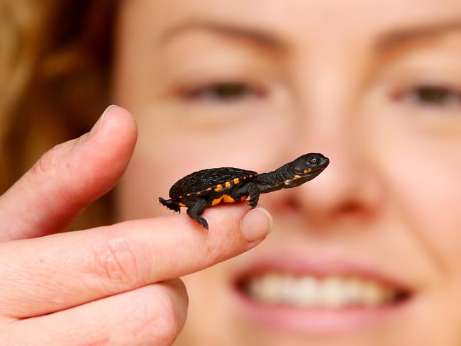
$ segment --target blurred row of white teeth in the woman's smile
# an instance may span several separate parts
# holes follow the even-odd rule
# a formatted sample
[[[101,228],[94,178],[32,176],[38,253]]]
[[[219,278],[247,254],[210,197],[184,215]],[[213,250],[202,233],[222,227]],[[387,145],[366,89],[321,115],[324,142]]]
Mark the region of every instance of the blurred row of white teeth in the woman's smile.
[[[391,302],[396,292],[377,282],[355,277],[295,277],[264,274],[246,284],[248,294],[267,305],[310,308],[374,307]]]

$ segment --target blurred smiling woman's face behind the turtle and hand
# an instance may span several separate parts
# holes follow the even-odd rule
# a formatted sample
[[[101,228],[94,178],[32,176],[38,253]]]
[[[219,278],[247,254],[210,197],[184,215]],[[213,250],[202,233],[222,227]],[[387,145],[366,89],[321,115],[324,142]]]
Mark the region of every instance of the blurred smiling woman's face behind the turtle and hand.
[[[132,0],[116,38],[121,218],[199,169],[331,160],[262,195],[262,245],[184,278],[178,345],[461,345],[459,0]]]

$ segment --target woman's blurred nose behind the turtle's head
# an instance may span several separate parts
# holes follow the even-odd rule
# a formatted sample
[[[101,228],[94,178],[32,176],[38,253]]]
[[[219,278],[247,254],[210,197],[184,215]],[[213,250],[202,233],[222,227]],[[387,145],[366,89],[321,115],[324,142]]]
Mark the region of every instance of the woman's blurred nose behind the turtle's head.
[[[317,226],[343,218],[370,218],[377,213],[384,188],[372,162],[367,162],[359,150],[349,145],[319,143],[319,146],[331,157],[331,162],[318,154],[319,165],[328,167],[308,184],[289,189],[284,195],[285,206]]]

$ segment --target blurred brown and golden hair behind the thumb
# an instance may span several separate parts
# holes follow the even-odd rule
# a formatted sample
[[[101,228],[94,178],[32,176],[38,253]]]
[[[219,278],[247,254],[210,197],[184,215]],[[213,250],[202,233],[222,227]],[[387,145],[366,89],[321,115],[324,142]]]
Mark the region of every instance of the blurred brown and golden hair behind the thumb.
[[[0,193],[109,102],[113,0],[0,0]],[[108,222],[109,201],[74,228]]]

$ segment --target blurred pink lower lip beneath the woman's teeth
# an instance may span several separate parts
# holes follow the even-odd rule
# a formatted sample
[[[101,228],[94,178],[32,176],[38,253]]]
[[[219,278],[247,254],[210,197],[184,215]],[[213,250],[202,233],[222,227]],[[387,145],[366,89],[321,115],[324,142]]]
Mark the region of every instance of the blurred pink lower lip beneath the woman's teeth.
[[[266,306],[250,298],[241,289],[233,290],[236,306],[249,320],[281,330],[302,333],[344,333],[370,328],[390,318],[396,318],[408,308],[411,298],[374,308],[297,308],[296,306]]]

